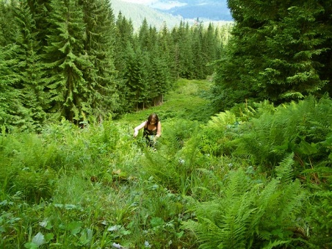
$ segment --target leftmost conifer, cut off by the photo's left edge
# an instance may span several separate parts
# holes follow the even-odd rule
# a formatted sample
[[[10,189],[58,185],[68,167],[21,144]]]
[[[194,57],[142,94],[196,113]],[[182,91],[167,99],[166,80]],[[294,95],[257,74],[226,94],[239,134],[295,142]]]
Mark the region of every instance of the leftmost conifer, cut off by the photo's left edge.
[[[38,123],[39,118],[44,120],[36,97],[31,101],[26,98],[31,93],[29,77],[38,77],[34,70],[28,75],[29,69],[35,66],[33,20],[25,1],[1,2],[0,11],[1,17],[6,18],[0,18],[0,30],[6,38],[0,39],[0,124],[7,130],[33,129],[34,122]]]

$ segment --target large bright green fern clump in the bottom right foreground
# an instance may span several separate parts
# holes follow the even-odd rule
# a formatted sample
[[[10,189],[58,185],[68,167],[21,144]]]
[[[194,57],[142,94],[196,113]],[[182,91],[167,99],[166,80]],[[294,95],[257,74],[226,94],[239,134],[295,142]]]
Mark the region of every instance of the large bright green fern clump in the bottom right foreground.
[[[290,174],[289,164],[291,161],[279,166],[286,167],[286,175]],[[304,246],[292,230],[303,225],[297,218],[306,192],[299,181],[259,183],[239,169],[229,172],[221,184],[221,194],[212,201],[193,203],[197,221],[184,223],[196,233],[199,248]]]

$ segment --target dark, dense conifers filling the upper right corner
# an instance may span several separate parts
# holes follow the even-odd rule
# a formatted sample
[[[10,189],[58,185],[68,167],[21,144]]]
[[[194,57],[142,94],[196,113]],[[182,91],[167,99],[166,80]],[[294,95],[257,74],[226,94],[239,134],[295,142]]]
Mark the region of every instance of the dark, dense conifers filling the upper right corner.
[[[235,21],[217,63],[214,105],[331,95],[331,1],[228,0]]]

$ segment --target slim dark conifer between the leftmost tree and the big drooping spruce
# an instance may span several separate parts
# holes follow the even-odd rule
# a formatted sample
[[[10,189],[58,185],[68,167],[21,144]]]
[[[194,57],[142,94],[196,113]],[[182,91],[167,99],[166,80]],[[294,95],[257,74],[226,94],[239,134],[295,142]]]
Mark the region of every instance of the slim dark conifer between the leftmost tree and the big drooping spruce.
[[[37,42],[37,31],[35,20],[30,12],[28,2],[22,0],[14,9],[15,23],[19,30],[17,37],[17,72],[16,77],[19,79],[19,99],[24,108],[28,111],[28,118],[25,118],[25,124],[34,129],[40,129],[46,120],[45,109],[47,107],[48,96],[44,91],[42,62],[37,55],[39,43]]]

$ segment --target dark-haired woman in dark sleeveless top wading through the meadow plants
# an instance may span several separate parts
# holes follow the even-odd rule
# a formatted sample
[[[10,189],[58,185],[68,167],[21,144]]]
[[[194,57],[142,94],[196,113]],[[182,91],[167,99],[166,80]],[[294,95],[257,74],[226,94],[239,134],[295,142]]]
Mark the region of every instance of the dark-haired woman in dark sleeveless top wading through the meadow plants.
[[[156,139],[161,136],[161,123],[158,115],[152,113],[149,118],[147,118],[147,121],[144,121],[142,124],[138,125],[138,127],[135,127],[135,129],[133,129],[133,136],[135,138],[138,135],[138,131],[142,128],[144,128],[143,138],[147,140],[147,145],[153,147]]]

